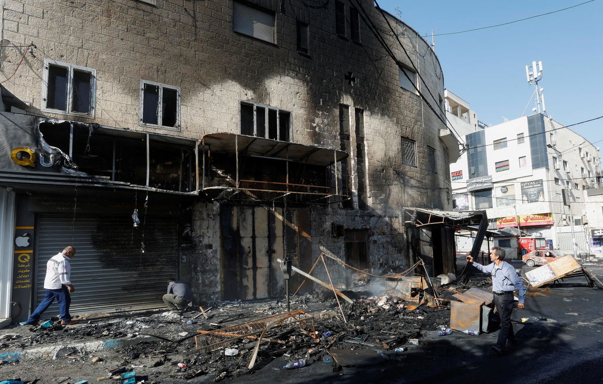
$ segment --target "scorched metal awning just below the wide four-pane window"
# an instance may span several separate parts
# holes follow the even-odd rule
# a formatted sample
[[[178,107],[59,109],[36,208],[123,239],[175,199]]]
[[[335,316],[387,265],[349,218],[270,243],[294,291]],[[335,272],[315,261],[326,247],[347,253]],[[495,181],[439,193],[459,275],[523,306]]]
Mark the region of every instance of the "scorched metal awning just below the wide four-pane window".
[[[330,166],[348,156],[343,150],[233,133],[204,135],[201,144],[212,152],[239,153],[245,156],[289,160],[315,166]]]

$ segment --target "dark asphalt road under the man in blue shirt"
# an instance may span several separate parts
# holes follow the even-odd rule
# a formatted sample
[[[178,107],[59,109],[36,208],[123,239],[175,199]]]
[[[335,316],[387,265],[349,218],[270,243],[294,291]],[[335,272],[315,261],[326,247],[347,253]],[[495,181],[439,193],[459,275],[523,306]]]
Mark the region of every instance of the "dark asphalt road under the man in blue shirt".
[[[516,268],[529,270],[521,263]],[[587,265],[599,279],[603,266]],[[497,331],[467,336],[427,332],[402,361],[362,368],[315,362],[298,370],[280,370],[281,359],[232,382],[247,383],[599,383],[603,378],[603,290],[593,290],[582,277],[566,279],[528,297],[525,309],[515,309],[519,345],[504,356],[490,346]],[[521,318],[529,318],[521,323]]]

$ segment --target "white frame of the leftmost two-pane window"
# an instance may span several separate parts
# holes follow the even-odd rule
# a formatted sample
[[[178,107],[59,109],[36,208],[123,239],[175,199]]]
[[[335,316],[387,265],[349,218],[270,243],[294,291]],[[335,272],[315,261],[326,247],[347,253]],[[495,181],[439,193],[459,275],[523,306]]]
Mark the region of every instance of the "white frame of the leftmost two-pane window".
[[[50,71],[51,67],[66,70],[65,78],[65,109],[48,107],[49,92],[51,91]],[[74,73],[85,72],[90,75],[88,112],[73,111],[74,101]],[[92,119],[95,115],[96,103],[96,69],[77,66],[75,64],[63,63],[51,59],[44,60],[44,72],[42,76],[42,111],[49,113],[65,114],[69,116],[80,116]]]

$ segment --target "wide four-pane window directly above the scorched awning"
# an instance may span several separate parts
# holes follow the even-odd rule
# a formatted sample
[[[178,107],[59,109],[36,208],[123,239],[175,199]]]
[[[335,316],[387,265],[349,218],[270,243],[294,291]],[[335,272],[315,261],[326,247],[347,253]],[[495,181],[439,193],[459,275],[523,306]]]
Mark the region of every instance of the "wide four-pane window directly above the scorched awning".
[[[241,134],[291,141],[291,112],[242,102]]]

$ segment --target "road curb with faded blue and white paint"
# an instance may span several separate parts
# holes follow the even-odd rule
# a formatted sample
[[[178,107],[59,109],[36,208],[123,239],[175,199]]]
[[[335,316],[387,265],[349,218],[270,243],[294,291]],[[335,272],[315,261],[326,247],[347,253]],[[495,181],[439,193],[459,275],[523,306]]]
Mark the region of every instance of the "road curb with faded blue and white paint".
[[[0,352],[0,361],[26,361],[32,359],[54,358],[62,348],[77,348],[80,352],[97,352],[101,350],[125,347],[127,345],[137,344],[150,336],[140,336],[136,338],[121,338],[107,340],[93,340],[73,343],[60,343],[46,345],[44,347],[24,348],[21,350],[11,350]]]

